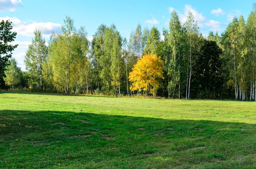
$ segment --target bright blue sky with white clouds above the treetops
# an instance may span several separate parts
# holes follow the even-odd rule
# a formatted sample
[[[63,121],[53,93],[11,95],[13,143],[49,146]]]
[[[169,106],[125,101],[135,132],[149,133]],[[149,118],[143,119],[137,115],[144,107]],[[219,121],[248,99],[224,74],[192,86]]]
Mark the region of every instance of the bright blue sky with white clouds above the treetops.
[[[254,0],[0,0],[0,20],[10,19],[13,30],[18,33],[15,44],[18,48],[13,58],[25,71],[23,62],[28,44],[34,37],[33,31],[40,29],[48,40],[52,31],[61,32],[65,16],[74,19],[77,29],[84,26],[88,39],[100,24],[115,24],[121,36],[129,39],[132,29],[140,23],[142,28],[153,26],[162,32],[168,29],[171,11],[178,12],[185,22],[190,10],[198,21],[200,32],[207,36],[209,31],[222,33],[234,16],[243,15],[247,20]]]

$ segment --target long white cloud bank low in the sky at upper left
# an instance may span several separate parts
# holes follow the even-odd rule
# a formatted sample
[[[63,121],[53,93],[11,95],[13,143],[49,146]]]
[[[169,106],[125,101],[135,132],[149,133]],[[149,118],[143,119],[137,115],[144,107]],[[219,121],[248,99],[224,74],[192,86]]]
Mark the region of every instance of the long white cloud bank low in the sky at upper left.
[[[0,20],[11,20],[13,31],[17,32],[17,35],[22,36],[34,36],[35,29],[39,29],[42,31],[42,36],[49,38],[52,34],[52,31],[54,32],[61,32],[61,24],[58,23],[52,23],[52,22],[35,22],[31,20],[27,21],[21,21],[16,17],[4,17]]]

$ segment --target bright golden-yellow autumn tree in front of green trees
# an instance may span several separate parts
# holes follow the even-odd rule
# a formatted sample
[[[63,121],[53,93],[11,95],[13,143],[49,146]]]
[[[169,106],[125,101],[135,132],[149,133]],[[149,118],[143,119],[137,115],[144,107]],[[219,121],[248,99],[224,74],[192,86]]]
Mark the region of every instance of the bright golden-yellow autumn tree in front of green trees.
[[[129,73],[129,80],[132,83],[132,91],[143,92],[144,96],[148,93],[156,95],[159,86],[157,78],[163,78],[163,61],[156,55],[144,55],[132,68]]]

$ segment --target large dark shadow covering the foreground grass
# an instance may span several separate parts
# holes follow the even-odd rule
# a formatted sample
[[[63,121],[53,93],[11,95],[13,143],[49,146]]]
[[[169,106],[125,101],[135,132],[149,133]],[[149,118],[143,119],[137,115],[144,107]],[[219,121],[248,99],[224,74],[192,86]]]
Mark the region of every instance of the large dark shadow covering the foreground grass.
[[[0,168],[254,168],[256,125],[0,111]]]

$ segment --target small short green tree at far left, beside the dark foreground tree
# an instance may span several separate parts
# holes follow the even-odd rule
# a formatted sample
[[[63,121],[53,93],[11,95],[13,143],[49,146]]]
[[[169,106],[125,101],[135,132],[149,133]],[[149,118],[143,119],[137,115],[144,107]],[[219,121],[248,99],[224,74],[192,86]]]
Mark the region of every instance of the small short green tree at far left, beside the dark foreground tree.
[[[20,70],[20,67],[17,67],[17,62],[14,58],[10,59],[9,62],[9,65],[4,71],[4,74],[6,76],[4,77],[4,81],[6,85],[10,86],[13,89],[20,85],[22,72]]]

